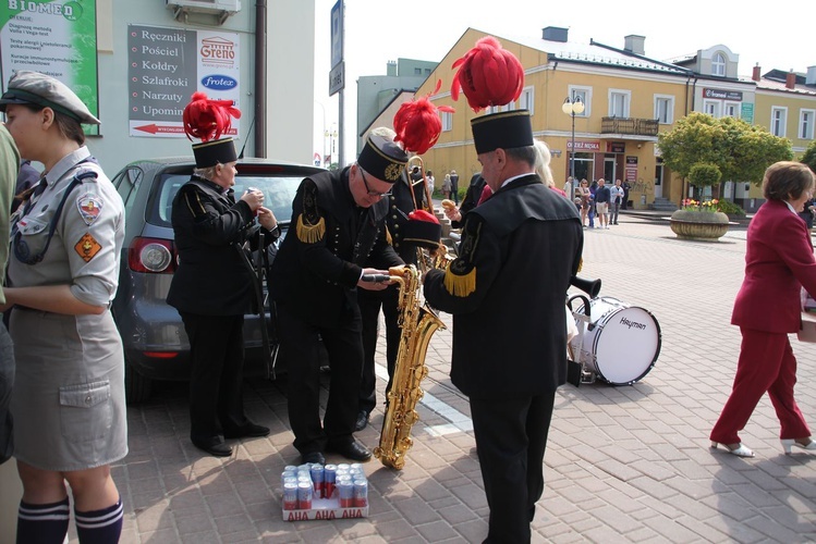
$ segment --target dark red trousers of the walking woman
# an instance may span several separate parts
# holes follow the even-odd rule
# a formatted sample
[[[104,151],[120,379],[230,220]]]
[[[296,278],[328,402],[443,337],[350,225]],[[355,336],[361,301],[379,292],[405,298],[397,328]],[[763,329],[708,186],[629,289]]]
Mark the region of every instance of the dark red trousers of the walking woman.
[[[711,430],[711,441],[735,444],[757,403],[767,392],[781,423],[780,438],[811,436],[802,411],[793,399],[796,358],[784,333],[740,327],[742,347],[731,396]]]

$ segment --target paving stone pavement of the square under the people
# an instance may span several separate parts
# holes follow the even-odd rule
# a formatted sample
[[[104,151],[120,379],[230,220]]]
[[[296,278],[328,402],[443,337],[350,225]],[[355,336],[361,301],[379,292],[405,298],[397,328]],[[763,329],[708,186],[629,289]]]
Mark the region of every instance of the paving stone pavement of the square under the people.
[[[782,455],[767,396],[742,433],[755,458],[708,447],[740,348],[729,321],[744,238],[743,230],[719,243],[678,240],[665,223],[630,215],[586,231],[581,275],[601,277],[601,295],[651,311],[661,350],[634,385],[559,390],[533,542],[816,542],[816,456]],[[282,521],[279,474],[299,460],[285,379],[247,380],[247,411],[272,432],[236,442],[228,459],[188,443],[185,387],[169,384],[129,412],[130,455],[113,468],[125,505],[122,542],[482,542],[488,508],[468,405],[448,378],[450,316],[443,320],[449,329],[431,339],[424,382],[436,411],[418,407],[404,470],[364,466],[367,519]],[[816,345],[792,344],[796,398],[816,425]],[[385,382],[378,387],[381,399]],[[381,421],[380,407],[357,434],[369,447]]]

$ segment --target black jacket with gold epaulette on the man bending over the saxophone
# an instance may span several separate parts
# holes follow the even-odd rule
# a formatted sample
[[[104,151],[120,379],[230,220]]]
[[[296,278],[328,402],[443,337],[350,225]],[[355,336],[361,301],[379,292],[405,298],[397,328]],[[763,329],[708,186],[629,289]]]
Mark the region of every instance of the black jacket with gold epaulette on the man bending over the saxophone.
[[[305,178],[292,203],[292,223],[272,263],[273,300],[307,323],[333,327],[357,304],[363,263],[402,264],[386,242],[385,197],[370,208],[354,202],[349,168]]]

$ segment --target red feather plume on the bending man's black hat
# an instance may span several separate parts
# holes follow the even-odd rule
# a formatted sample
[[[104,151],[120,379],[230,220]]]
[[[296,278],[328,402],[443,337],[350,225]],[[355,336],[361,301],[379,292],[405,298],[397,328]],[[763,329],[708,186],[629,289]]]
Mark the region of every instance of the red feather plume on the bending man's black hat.
[[[418,100],[404,102],[394,115],[393,126],[397,132],[394,141],[402,141],[405,151],[423,154],[434,147],[442,133],[442,120],[439,112],[453,113],[450,106],[437,108],[430,102],[430,97],[439,92],[442,81],[437,81],[436,89]]]

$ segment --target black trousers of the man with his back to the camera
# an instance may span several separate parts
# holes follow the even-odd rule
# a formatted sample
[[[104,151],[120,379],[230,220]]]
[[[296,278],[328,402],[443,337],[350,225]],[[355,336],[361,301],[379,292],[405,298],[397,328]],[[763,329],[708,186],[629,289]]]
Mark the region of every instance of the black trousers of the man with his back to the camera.
[[[471,398],[487,505],[488,543],[529,542],[535,504],[544,493],[544,452],[556,393]]]

